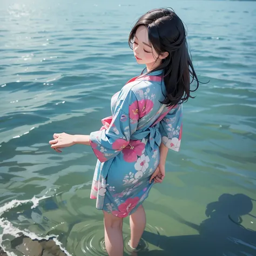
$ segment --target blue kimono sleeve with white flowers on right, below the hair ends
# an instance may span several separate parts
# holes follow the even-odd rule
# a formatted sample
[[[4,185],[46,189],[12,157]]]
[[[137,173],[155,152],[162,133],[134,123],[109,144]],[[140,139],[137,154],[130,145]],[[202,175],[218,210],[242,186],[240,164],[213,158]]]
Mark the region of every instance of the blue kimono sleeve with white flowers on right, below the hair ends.
[[[179,151],[182,134],[182,104],[173,107],[160,122],[162,143],[171,150]]]

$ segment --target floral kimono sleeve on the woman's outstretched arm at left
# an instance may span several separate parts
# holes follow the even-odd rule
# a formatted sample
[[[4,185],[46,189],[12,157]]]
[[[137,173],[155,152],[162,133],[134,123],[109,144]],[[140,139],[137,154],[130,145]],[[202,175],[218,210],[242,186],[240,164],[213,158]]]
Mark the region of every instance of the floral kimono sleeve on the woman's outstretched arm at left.
[[[138,124],[137,118],[132,116],[130,110],[131,106],[137,104],[133,91],[122,90],[109,127],[90,134],[92,150],[100,162],[116,157],[129,144],[130,137],[137,130]]]

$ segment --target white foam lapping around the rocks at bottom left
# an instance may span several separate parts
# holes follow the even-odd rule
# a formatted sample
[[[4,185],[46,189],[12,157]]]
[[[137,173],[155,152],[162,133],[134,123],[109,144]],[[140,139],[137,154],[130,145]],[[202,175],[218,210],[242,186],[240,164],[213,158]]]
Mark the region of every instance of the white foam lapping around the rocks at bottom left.
[[[66,249],[63,247],[62,243],[58,241],[57,237],[58,235],[46,235],[45,237],[41,237],[35,233],[30,232],[29,230],[20,230],[19,228],[13,226],[9,220],[6,220],[4,218],[1,218],[2,214],[6,211],[9,211],[11,208],[17,207],[22,204],[27,204],[27,203],[33,203],[31,206],[32,208],[35,208],[40,200],[43,200],[45,198],[49,198],[51,196],[43,196],[40,198],[36,198],[35,196],[32,199],[29,200],[11,200],[10,202],[6,203],[2,207],[0,207],[0,227],[3,228],[2,234],[0,234],[0,246],[3,248],[4,251],[6,251],[8,256],[17,256],[14,252],[8,252],[8,249],[5,248],[3,245],[3,236],[5,234],[10,234],[13,237],[19,237],[21,236],[21,233],[24,234],[26,237],[30,237],[32,240],[37,239],[37,240],[49,240],[50,238],[55,241],[56,245],[60,247],[62,251],[66,253],[68,256],[72,256]]]

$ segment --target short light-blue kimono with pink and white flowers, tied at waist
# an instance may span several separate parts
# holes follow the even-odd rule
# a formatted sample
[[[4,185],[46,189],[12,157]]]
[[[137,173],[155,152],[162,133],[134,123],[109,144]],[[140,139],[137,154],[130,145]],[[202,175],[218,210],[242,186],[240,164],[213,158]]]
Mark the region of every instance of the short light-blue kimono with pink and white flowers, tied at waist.
[[[161,72],[129,80],[111,99],[112,116],[90,134],[98,158],[91,197],[96,208],[126,217],[149,196],[161,142],[179,151],[182,104],[167,107]]]

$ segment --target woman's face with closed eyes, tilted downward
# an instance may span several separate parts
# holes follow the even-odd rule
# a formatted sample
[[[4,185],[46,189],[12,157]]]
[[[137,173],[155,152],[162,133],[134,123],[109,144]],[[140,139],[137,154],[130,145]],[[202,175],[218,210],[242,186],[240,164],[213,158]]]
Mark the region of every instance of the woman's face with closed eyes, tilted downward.
[[[156,68],[161,64],[164,56],[158,55],[156,50],[149,42],[147,28],[139,26],[133,39],[133,53],[138,64],[146,64],[147,71]],[[150,69],[150,70],[149,70]]]

